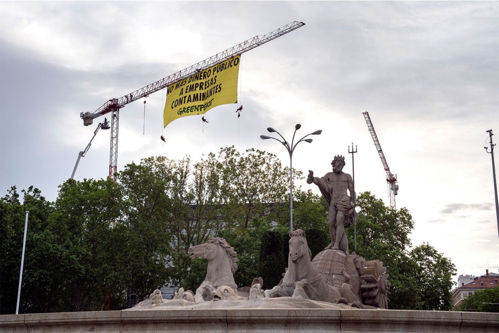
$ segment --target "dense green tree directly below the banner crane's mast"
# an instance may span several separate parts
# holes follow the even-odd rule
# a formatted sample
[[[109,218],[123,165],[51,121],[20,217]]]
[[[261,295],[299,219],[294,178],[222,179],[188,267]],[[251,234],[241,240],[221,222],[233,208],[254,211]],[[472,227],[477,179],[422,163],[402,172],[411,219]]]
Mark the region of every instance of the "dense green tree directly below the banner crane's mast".
[[[64,276],[57,300],[68,311],[100,310],[127,286],[127,239],[121,187],[106,180],[68,180],[59,186],[48,230],[59,244]]]

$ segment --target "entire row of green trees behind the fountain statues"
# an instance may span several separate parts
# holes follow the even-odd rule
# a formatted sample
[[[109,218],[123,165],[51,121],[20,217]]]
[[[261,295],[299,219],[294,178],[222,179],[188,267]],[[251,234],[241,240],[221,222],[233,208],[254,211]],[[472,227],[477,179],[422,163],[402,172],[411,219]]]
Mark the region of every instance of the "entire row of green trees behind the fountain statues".
[[[274,154],[232,146],[197,162],[148,157],[125,165],[117,180],[68,180],[55,202],[33,187],[22,199],[15,186],[0,198],[0,313],[15,310],[26,210],[24,313],[101,310],[109,299],[122,309],[130,292],[140,301],[172,279],[195,290],[206,261],[189,259],[187,250],[214,236],[237,252],[239,287],[260,275],[266,289],[279,282],[289,169]],[[309,189],[293,192],[294,229],[305,230],[315,255],[329,243],[328,207]],[[357,254],[389,267],[390,308],[448,310],[454,265],[429,244],[412,246],[407,209],[389,209],[369,192],[358,196],[358,208]],[[353,249],[353,226],[346,232]]]

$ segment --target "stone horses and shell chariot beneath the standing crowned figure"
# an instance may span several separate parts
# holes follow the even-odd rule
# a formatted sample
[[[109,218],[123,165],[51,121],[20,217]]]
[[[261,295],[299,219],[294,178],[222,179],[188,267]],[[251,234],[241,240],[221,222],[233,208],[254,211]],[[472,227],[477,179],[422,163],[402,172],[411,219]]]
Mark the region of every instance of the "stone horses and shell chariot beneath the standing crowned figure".
[[[233,305],[238,308],[251,307],[252,304],[263,306],[265,303],[272,307],[276,298],[281,297],[290,308],[297,304],[297,299],[301,299],[298,301],[300,304],[326,302],[356,308],[388,308],[391,284],[383,262],[366,261],[355,252],[347,254],[339,249],[326,249],[312,259],[305,233],[298,229],[289,235],[288,267],[279,285],[271,290],[263,290],[262,278],[254,279],[251,287],[237,289],[232,275],[237,269],[236,253],[223,238],[212,238],[189,249],[191,258],[208,260],[205,281],[196,294],[179,288],[172,300],[164,300],[161,292],[155,290],[149,299],[134,308],[192,307],[201,304],[205,304],[203,308],[218,308],[219,305],[213,301],[220,301],[215,302],[217,304],[236,302],[237,305]],[[246,301],[247,305],[244,304]],[[252,303],[255,301],[264,303]],[[282,306],[282,302],[278,303]]]

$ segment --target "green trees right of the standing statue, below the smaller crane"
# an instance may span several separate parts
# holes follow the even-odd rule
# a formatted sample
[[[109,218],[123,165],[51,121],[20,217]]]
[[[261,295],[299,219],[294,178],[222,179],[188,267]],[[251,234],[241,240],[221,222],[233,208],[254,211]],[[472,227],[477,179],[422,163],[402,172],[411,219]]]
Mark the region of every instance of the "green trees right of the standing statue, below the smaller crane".
[[[392,284],[391,309],[449,310],[451,276],[455,266],[429,244],[411,250],[409,234],[414,228],[406,208],[390,209],[369,192],[357,197],[357,254],[379,259],[388,267]],[[345,226],[353,249],[353,226]]]

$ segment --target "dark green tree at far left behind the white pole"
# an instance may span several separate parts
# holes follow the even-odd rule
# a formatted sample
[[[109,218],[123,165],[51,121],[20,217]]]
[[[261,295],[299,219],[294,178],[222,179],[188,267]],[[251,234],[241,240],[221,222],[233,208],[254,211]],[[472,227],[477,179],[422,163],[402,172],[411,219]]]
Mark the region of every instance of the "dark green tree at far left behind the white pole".
[[[60,282],[60,276],[53,274],[53,270],[60,267],[59,249],[47,230],[47,219],[53,210],[52,203],[46,201],[40,190],[33,186],[22,190],[22,193],[22,204],[15,186],[0,200],[2,314],[15,313],[26,211],[29,211],[29,219],[20,311],[27,313],[52,310],[55,299],[51,290],[57,288]]]

